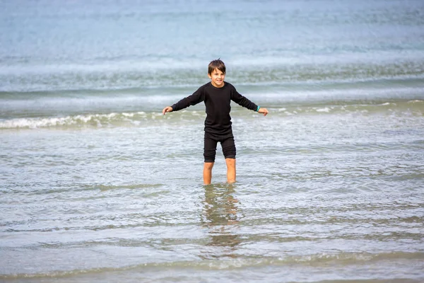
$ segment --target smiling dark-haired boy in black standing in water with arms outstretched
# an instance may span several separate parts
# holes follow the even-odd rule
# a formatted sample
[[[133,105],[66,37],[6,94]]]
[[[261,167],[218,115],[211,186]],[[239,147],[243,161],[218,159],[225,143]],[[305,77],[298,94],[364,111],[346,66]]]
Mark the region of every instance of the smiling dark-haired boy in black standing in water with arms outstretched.
[[[211,82],[201,86],[191,96],[182,98],[172,106],[163,108],[162,112],[178,111],[204,101],[206,105],[205,137],[204,137],[204,184],[211,184],[212,168],[215,163],[216,145],[218,141],[223,148],[227,164],[228,183],[235,183],[235,143],[231,128],[231,100],[235,103],[257,111],[266,116],[268,110],[260,108],[235,90],[232,84],[224,81],[225,64],[220,59],[208,65],[208,77]]]

